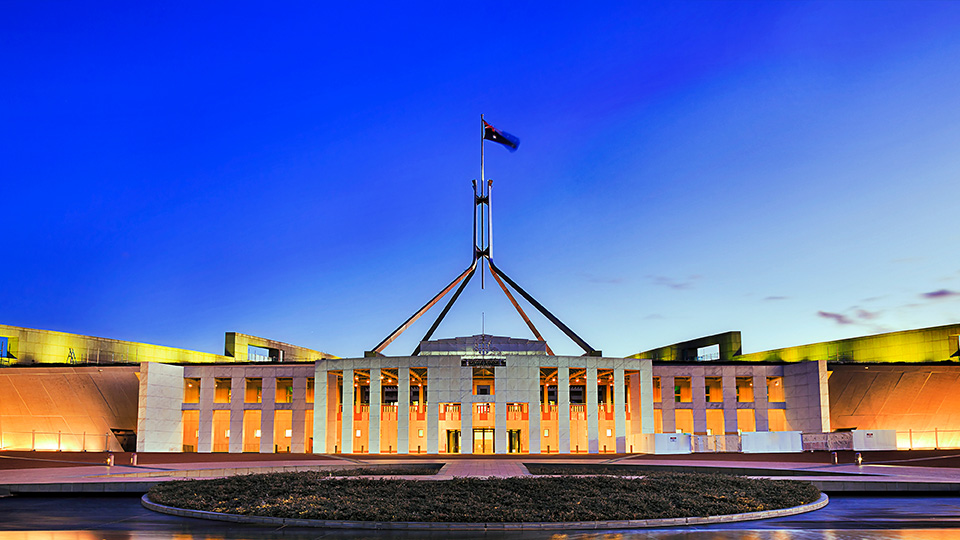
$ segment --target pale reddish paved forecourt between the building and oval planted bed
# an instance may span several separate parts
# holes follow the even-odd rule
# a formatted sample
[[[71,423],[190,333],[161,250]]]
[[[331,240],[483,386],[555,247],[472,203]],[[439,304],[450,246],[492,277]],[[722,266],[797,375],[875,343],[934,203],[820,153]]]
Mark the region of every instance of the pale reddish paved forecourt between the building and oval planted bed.
[[[302,458],[293,455],[276,455],[276,459],[257,456],[245,461],[243,455],[220,456],[215,461],[210,455],[202,455],[196,461],[188,454],[172,455],[170,462],[142,465],[97,465],[72,462],[69,455],[37,453],[36,463],[45,466],[32,467],[29,459],[20,458],[16,467],[4,468],[5,456],[0,453],[0,494],[8,492],[141,492],[156,482],[180,478],[212,478],[235,474],[250,474],[278,471],[318,470],[356,467],[364,464],[416,464],[444,463],[437,475],[416,477],[424,480],[444,480],[455,477],[513,477],[528,475],[524,463],[619,463],[650,465],[657,467],[696,468],[697,470],[719,469],[737,472],[737,469],[760,469],[763,474],[743,474],[769,478],[807,480],[828,492],[900,492],[939,491],[960,493],[960,468],[918,466],[905,464],[825,464],[810,461],[775,461],[731,455],[728,461],[698,460],[696,455],[685,456],[570,456],[569,459],[551,456],[520,456],[511,458],[459,457],[459,456],[317,456]],[[60,466],[49,466],[51,458],[60,457]],[[129,462],[129,460],[128,460]],[[10,463],[10,460],[6,460]],[[920,462],[923,463],[923,462]],[[926,463],[925,463],[926,464]],[[771,471],[771,472],[767,472]],[[773,471],[782,471],[782,475]],[[809,474],[805,474],[809,473]]]

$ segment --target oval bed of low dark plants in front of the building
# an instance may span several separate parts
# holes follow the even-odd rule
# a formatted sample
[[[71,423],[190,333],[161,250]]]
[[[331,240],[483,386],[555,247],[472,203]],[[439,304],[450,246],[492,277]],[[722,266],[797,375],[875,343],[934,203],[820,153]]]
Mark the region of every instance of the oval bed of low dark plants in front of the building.
[[[339,479],[298,472],[172,481],[150,490],[167,506],[298,519],[562,522],[739,514],[817,500],[807,482],[658,472],[642,479]]]

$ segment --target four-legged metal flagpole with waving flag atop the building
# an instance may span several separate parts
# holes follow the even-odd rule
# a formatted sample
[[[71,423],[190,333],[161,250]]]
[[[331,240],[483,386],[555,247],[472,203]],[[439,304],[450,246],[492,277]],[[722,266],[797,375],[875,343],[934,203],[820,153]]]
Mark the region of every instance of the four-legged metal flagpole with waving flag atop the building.
[[[543,307],[540,302],[531,296],[527,291],[523,290],[516,282],[507,277],[507,275],[497,267],[493,262],[493,214],[490,207],[491,192],[493,190],[493,180],[487,180],[485,171],[484,171],[484,155],[483,155],[483,146],[484,141],[493,141],[500,143],[506,146],[511,152],[515,151],[520,145],[520,140],[510,135],[509,133],[504,133],[503,131],[498,130],[497,128],[491,126],[484,120],[483,115],[480,115],[480,127],[481,137],[480,137],[480,186],[477,186],[477,181],[473,180],[473,260],[470,263],[470,266],[466,270],[460,273],[459,276],[454,278],[446,287],[443,288],[439,293],[436,294],[429,302],[423,305],[416,313],[410,316],[406,321],[403,322],[400,326],[397,327],[389,336],[383,339],[376,347],[372,350],[366,351],[365,356],[383,356],[383,350],[390,345],[395,339],[400,337],[407,328],[410,327],[414,322],[417,321],[424,313],[430,310],[434,305],[437,304],[444,296],[447,295],[451,290],[456,287],[456,292],[453,293],[453,296],[450,297],[450,300],[447,301],[446,305],[443,306],[443,309],[440,311],[439,316],[430,326],[430,329],[427,330],[427,333],[423,336],[421,342],[428,341],[433,333],[436,331],[437,327],[440,326],[440,322],[443,321],[443,318],[446,317],[447,312],[450,311],[450,308],[457,301],[457,298],[460,297],[460,293],[463,292],[463,289],[466,288],[467,283],[470,282],[470,279],[473,278],[473,275],[477,271],[477,263],[480,263],[480,288],[484,288],[484,274],[486,273],[487,268],[490,269],[490,275],[493,276],[493,279],[500,285],[500,288],[503,290],[504,294],[510,300],[510,303],[513,304],[513,307],[516,308],[517,313],[520,314],[520,317],[523,318],[524,322],[527,323],[527,327],[533,332],[533,335],[537,337],[538,340],[546,343],[546,340],[543,339],[543,336],[534,326],[533,322],[527,317],[527,314],[524,313],[523,308],[520,307],[520,304],[514,298],[513,294],[510,292],[512,288],[520,296],[524,298],[527,302],[530,303],[533,307],[537,309],[544,317],[547,318],[551,323],[554,324],[561,332],[566,334],[574,343],[576,343],[584,351],[584,356],[602,356],[601,351],[594,349],[587,344],[580,336],[578,336],[573,330],[571,330],[567,325],[558,319],[553,313]],[[479,187],[479,190],[478,190]],[[507,287],[509,285],[509,288]],[[485,332],[485,315],[483,312],[480,314],[480,328],[481,333]],[[550,346],[546,346],[546,352],[549,355],[553,355],[553,351],[550,349]],[[420,346],[417,345],[417,348],[413,351],[413,356],[420,354]]]

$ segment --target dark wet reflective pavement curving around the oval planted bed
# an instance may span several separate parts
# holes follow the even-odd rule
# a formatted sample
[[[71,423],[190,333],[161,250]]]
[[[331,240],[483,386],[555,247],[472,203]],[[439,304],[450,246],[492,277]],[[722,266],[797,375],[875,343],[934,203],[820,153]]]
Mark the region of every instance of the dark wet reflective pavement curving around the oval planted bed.
[[[146,510],[133,496],[0,498],[0,540],[259,540],[265,538],[540,538],[618,540],[960,539],[960,497],[831,497],[826,508],[778,519],[687,527],[569,533],[339,531],[236,525]]]

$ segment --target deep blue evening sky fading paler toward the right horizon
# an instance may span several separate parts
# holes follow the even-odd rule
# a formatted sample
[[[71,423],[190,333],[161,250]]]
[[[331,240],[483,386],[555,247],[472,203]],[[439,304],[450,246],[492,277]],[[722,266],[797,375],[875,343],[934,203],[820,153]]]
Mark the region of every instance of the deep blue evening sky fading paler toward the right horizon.
[[[0,3],[0,323],[361,355],[470,263],[481,113],[607,355],[960,321],[960,3],[342,4]],[[436,336],[531,337],[491,283]]]

